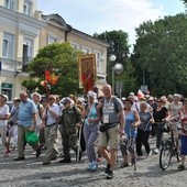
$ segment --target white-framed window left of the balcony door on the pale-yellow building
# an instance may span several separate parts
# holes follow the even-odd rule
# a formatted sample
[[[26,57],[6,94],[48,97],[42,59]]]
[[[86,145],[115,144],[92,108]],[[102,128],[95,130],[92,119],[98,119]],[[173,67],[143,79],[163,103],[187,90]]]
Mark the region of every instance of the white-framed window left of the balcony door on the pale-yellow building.
[[[13,34],[4,32],[3,34],[3,44],[2,44],[2,56],[6,58],[13,58],[13,44],[14,36]]]

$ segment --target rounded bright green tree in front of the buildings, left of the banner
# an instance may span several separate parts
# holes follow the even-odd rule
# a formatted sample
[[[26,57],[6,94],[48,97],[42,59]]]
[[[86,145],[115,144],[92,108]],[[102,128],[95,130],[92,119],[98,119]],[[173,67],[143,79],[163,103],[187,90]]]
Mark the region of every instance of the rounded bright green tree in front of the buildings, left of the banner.
[[[45,80],[45,70],[58,76],[55,85],[51,85],[51,92],[61,96],[76,94],[78,89],[78,63],[80,52],[70,46],[69,43],[54,43],[41,48],[36,57],[30,63],[30,80],[23,81],[30,91],[38,89],[41,94],[46,90],[40,85]]]

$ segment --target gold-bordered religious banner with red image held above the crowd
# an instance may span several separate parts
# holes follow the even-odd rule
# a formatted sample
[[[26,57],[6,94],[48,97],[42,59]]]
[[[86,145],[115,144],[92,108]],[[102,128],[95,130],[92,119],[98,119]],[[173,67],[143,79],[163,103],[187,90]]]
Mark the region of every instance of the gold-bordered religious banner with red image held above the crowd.
[[[87,94],[96,84],[96,54],[80,56],[78,59],[79,87]]]

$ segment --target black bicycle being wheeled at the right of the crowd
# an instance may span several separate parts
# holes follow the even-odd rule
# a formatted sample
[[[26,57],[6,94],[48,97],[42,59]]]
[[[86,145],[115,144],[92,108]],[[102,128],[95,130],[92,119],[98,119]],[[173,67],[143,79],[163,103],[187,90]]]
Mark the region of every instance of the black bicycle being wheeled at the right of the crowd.
[[[180,162],[179,140],[175,141],[172,123],[168,123],[170,124],[170,136],[163,142],[160,153],[160,167],[163,170],[169,166],[172,157],[176,156],[177,162]]]

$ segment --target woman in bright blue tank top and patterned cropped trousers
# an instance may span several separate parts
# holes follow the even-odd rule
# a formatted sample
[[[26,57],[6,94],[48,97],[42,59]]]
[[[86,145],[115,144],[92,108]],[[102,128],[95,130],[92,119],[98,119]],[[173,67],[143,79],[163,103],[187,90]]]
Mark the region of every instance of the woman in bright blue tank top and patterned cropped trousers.
[[[125,128],[124,132],[125,135],[121,138],[120,148],[123,156],[123,163],[121,164],[122,167],[129,166],[128,163],[128,151],[131,154],[131,164],[135,164],[135,152],[134,152],[134,144],[135,138],[138,132],[138,127],[140,124],[140,117],[136,110],[132,109],[132,100],[125,99],[124,100],[124,116],[125,116]]]

